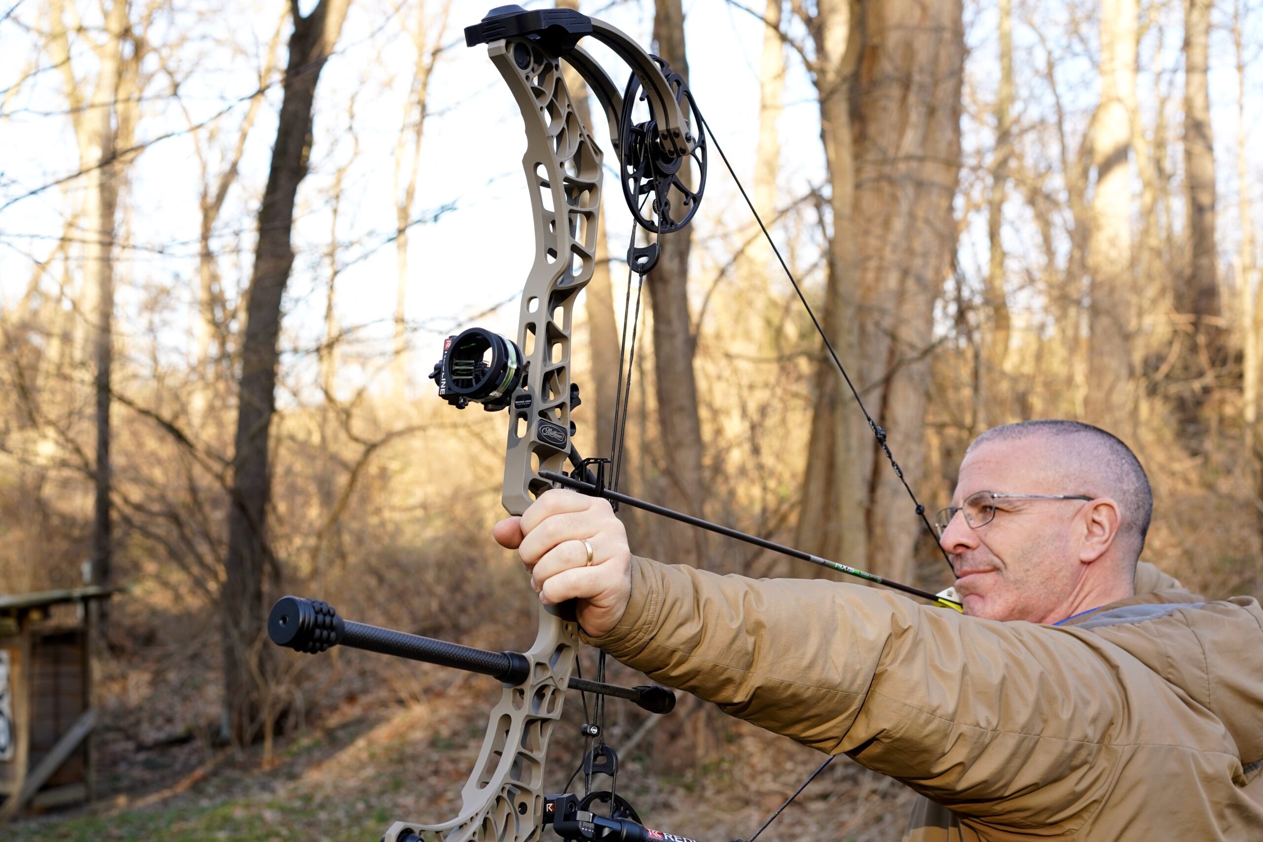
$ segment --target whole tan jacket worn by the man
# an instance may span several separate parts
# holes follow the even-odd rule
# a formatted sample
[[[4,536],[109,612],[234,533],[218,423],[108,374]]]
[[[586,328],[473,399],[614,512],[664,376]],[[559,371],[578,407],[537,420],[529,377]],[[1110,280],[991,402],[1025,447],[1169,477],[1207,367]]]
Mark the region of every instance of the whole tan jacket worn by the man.
[[[1263,610],[1148,592],[1065,626],[648,559],[589,639],[926,798],[908,842],[1263,839]]]

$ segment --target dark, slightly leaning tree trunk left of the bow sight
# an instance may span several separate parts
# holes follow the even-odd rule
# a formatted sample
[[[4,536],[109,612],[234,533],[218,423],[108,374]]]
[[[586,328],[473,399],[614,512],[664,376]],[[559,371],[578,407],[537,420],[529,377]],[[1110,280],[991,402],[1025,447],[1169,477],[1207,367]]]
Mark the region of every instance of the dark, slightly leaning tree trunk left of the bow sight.
[[[241,342],[241,380],[229,510],[229,552],[221,592],[225,708],[230,736],[255,740],[278,711],[268,694],[274,661],[263,645],[264,574],[275,573],[266,535],[270,496],[268,433],[275,409],[280,303],[294,260],[294,197],[307,174],[316,82],[342,29],[349,0],[320,0],[306,18],[294,10],[285,90],[268,186],[259,208],[259,242]]]

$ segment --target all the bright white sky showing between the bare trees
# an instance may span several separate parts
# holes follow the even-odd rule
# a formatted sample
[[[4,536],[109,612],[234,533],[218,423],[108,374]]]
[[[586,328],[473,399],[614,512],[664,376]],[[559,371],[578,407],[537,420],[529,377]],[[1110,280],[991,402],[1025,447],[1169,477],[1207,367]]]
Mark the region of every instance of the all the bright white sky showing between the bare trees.
[[[355,333],[357,341],[365,343],[362,350],[366,352],[380,350],[389,333],[395,297],[395,249],[386,241],[394,230],[394,145],[402,117],[402,97],[413,61],[405,28],[412,25],[416,15],[413,3],[397,6],[397,1],[352,0],[338,53],[321,77],[312,169],[299,192],[296,221],[298,256],[289,285],[284,340],[289,350],[309,348],[322,336],[323,295],[328,278],[325,254],[331,240],[330,183],[333,172],[351,154],[352,129],[359,157],[345,175],[336,235],[344,246],[342,263],[350,264],[337,282],[338,318],[347,328],[368,326]],[[418,375],[428,370],[431,357],[437,359],[441,337],[472,313],[508,300],[509,305],[500,308],[498,317],[482,322],[513,331],[517,307],[512,299],[522,289],[532,254],[529,205],[520,170],[524,149],[520,117],[485,48],[467,49],[461,38],[462,28],[481,19],[490,3],[453,0],[445,42],[455,45],[440,59],[432,82],[432,116],[426,124],[423,173],[414,216],[424,216],[452,203],[457,210],[412,231],[408,319],[421,328],[416,342],[424,348],[418,355],[422,369]],[[186,5],[193,5],[193,1]],[[437,3],[429,0],[428,5],[433,8]],[[1037,14],[1041,32],[1055,32],[1067,9],[1033,4],[1024,11],[1021,3],[1018,6],[1018,112],[1043,111],[1047,96],[1033,81],[1043,59],[1034,38],[1036,30],[1023,24],[1022,19],[1023,15]],[[587,5],[585,10],[648,45],[652,4],[624,3],[600,10]],[[150,100],[145,104],[140,139],[179,133],[187,127],[188,120],[202,121],[231,106],[213,124],[218,136],[210,144],[218,150],[212,155],[222,155],[245,112],[244,104],[232,104],[254,90],[253,73],[279,14],[280,4],[274,0],[229,0],[227,8],[213,13],[181,9],[162,16],[152,39],[171,43],[179,37],[186,39],[186,44],[181,49],[167,50],[164,59],[169,67],[165,69],[159,67],[157,59],[148,62],[148,69],[155,73],[155,78],[149,87]],[[1220,10],[1220,18],[1226,14]],[[1162,42],[1163,54],[1157,64],[1168,74],[1178,68],[1178,4],[1170,4],[1162,13],[1167,29]],[[45,16],[39,0],[24,0],[9,20],[0,23],[0,98],[5,96],[5,88],[30,69],[30,62],[38,62],[35,67],[48,64],[45,56],[37,57],[33,49],[37,39],[28,30],[47,25]],[[686,3],[686,16],[692,88],[738,174],[749,183],[758,119],[763,24],[722,0]],[[92,25],[91,19],[85,23]],[[971,50],[966,97],[985,104],[991,96],[997,66],[994,6],[989,0],[967,6],[966,27]],[[287,25],[284,35],[288,37],[288,33]],[[1253,34],[1257,43],[1258,33]],[[1056,35],[1080,56],[1086,56],[1085,49],[1092,49],[1092,27],[1085,29],[1085,37],[1086,42],[1076,42]],[[1221,249],[1229,254],[1235,247],[1231,222],[1235,220],[1238,183],[1233,158],[1236,91],[1226,34],[1219,30],[1215,38],[1212,116],[1223,184],[1220,216],[1225,221],[1220,227]],[[1156,35],[1151,37],[1151,43],[1157,44]],[[585,45],[621,85],[626,78],[625,67],[600,44]],[[81,76],[91,74],[93,69],[86,52],[81,44],[75,56]],[[279,61],[284,62],[284,48]],[[1260,96],[1258,67],[1253,72],[1248,101],[1257,105]],[[1080,58],[1067,63],[1062,74],[1063,95],[1072,109],[1079,109],[1081,122],[1095,101],[1095,73],[1090,62]],[[179,80],[187,116],[169,98],[173,78]],[[1180,119],[1178,82],[1176,78],[1173,112],[1168,115],[1173,125],[1178,125]],[[1142,97],[1146,83],[1142,77]],[[1152,78],[1148,83],[1152,85]],[[1163,85],[1171,87],[1171,78],[1164,78]],[[347,116],[352,101],[354,126]],[[0,159],[0,206],[77,168],[68,121],[57,116],[63,112],[64,102],[62,80],[56,68],[38,73],[32,82],[10,95],[5,117],[0,119],[0,149],[5,150]],[[230,287],[244,285],[249,276],[254,212],[266,178],[278,104],[279,90],[273,88],[251,135],[241,178],[229,198],[215,239],[216,250],[224,255],[221,266]],[[801,62],[792,53],[786,104],[781,121],[782,202],[823,179],[813,90]],[[1250,109],[1252,131],[1259,111]],[[609,162],[613,154],[604,121],[596,120],[594,130],[606,149]],[[979,150],[990,143],[990,130],[969,117],[965,130],[966,157],[976,160]],[[202,143],[205,148],[206,133]],[[1252,188],[1258,193],[1260,153],[1254,150],[1252,154]],[[1178,168],[1178,160],[1172,163]],[[967,188],[980,183],[976,172],[966,172],[962,178]],[[43,259],[52,250],[80,184],[80,181],[69,181],[64,187],[43,191],[0,211],[0,304],[8,305],[21,294],[30,278],[32,260]],[[141,347],[141,343],[149,341],[155,327],[162,345],[159,359],[176,360],[192,348],[189,319],[197,290],[198,191],[195,146],[188,135],[154,143],[133,169],[128,211],[120,231],[120,239],[131,247],[119,251],[119,321],[125,341],[129,335],[136,337],[128,345],[129,353],[136,360],[149,357],[149,348]],[[716,260],[722,259],[720,251],[727,247],[726,244],[711,237],[721,218],[734,225],[748,222],[739,203],[731,179],[712,151],[707,196],[695,228],[700,251],[714,251]],[[629,218],[618,181],[610,174],[605,181],[605,213],[611,251],[618,254],[626,242]],[[1263,206],[1257,215],[1263,215]],[[1021,213],[1015,215],[1007,236],[1014,252],[1022,252],[1031,231],[1024,230]],[[966,269],[985,265],[985,225],[980,231],[975,218],[966,226],[962,265]],[[619,278],[618,271],[615,278]],[[47,279],[44,289],[54,290],[56,280]],[[145,304],[153,300],[162,303],[159,316],[153,319],[143,317]],[[352,365],[355,347],[349,356]],[[433,353],[428,352],[431,348]],[[369,371],[364,374],[371,375]]]

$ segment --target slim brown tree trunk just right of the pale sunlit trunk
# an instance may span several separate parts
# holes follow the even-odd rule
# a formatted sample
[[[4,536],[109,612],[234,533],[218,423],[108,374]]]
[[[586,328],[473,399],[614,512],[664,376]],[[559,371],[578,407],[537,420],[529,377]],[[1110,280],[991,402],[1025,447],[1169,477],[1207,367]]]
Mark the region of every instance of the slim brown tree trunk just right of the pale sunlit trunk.
[[[1191,328],[1178,375],[1182,389],[1176,413],[1182,437],[1202,438],[1202,405],[1214,388],[1215,369],[1224,365],[1219,324],[1219,276],[1215,271],[1215,146],[1210,129],[1206,53],[1211,0],[1185,0],[1185,207],[1188,230],[1188,273],[1176,288],[1175,304]],[[1243,182],[1243,188],[1249,182]],[[1207,370],[1209,369],[1209,370]]]

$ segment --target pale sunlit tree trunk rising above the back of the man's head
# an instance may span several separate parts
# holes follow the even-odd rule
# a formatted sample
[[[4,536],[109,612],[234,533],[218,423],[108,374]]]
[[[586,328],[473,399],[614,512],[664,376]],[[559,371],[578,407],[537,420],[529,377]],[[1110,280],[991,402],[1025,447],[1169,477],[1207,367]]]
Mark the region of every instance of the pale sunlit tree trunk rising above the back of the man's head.
[[[1135,0],[1101,5],[1101,100],[1092,126],[1092,230],[1087,245],[1087,420],[1124,438],[1132,385],[1132,126],[1135,96]]]

